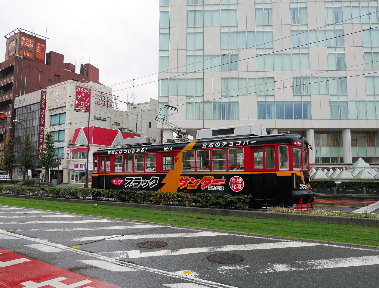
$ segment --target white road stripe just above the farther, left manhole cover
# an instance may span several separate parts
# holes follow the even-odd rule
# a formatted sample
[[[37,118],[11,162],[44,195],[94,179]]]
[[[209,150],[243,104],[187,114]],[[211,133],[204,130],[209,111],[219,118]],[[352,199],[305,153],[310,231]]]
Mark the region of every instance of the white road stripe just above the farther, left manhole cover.
[[[226,235],[220,232],[197,232],[197,233],[168,233],[168,234],[147,234],[147,235],[109,235],[93,236],[73,239],[72,241],[92,241],[92,240],[128,240],[128,239],[149,239],[149,238],[179,238],[179,237],[201,237]]]

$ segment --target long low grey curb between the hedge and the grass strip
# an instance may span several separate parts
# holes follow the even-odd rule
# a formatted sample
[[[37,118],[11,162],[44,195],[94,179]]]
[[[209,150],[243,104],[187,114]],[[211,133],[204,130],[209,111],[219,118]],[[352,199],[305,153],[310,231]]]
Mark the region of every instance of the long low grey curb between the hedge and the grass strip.
[[[367,226],[367,227],[379,227],[378,218],[357,218],[357,217],[342,217],[342,216],[276,213],[276,212],[267,212],[267,211],[248,211],[248,210],[230,210],[230,209],[216,209],[216,208],[166,206],[166,205],[139,204],[139,203],[127,203],[127,202],[110,202],[110,201],[99,201],[99,200],[39,197],[39,196],[27,196],[27,195],[4,194],[4,193],[0,193],[0,195],[2,195],[3,197],[11,197],[11,198],[49,200],[49,201],[58,201],[58,202],[66,202],[66,203],[84,203],[84,204],[89,204],[89,205],[96,204],[96,205],[108,205],[108,206],[117,206],[117,207],[132,207],[132,208],[152,209],[152,210],[161,210],[161,211],[188,212],[188,213],[210,214],[210,215],[220,215],[220,216],[245,217],[245,218],[254,218],[254,219],[305,221],[305,222],[338,224],[338,225],[357,225],[357,226]]]

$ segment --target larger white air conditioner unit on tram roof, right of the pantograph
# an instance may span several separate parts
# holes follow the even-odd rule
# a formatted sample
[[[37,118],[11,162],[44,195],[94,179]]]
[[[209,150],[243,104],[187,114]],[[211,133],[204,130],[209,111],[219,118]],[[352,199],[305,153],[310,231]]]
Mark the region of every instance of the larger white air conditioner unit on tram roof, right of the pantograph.
[[[197,140],[207,140],[213,138],[235,138],[237,136],[262,136],[267,135],[265,127],[261,125],[248,124],[222,128],[200,129],[197,130]]]

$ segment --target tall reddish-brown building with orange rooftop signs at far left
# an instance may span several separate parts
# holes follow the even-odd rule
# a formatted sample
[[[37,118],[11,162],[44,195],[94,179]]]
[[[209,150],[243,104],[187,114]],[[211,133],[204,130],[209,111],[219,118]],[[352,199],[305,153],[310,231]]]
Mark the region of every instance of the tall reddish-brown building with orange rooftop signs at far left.
[[[67,80],[99,83],[99,69],[95,66],[81,64],[80,74],[77,74],[74,64],[64,63],[64,55],[53,51],[45,53],[48,38],[44,36],[17,28],[4,37],[6,53],[5,61],[0,63],[0,112],[6,114],[8,122],[15,119],[14,103],[18,96]],[[0,127],[0,154],[9,136],[7,132],[12,133],[12,130],[7,131],[6,125]]]

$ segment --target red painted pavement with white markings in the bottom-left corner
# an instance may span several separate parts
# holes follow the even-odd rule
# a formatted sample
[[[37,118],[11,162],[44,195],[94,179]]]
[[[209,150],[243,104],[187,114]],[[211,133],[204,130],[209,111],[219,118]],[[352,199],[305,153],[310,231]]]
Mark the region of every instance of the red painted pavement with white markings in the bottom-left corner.
[[[68,285],[70,288],[119,288],[0,248],[0,288],[64,288]]]

